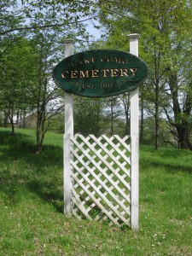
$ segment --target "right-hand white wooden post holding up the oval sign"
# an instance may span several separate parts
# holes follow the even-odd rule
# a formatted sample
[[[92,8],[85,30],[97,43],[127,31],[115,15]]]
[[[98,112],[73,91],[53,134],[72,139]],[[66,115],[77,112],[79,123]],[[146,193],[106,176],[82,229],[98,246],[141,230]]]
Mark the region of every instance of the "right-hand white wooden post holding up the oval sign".
[[[138,56],[138,34],[128,35],[130,53]],[[138,88],[131,90],[131,230],[138,230],[139,203],[139,99]]]

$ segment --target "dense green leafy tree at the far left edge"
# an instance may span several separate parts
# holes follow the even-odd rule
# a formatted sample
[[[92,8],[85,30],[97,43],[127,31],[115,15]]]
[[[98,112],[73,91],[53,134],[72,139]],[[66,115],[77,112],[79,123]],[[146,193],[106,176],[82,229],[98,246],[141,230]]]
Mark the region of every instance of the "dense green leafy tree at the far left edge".
[[[17,40],[15,38],[2,59],[0,105],[5,113],[5,119],[9,118],[12,135],[15,131],[15,115],[26,112],[26,108],[30,104],[27,97],[30,61],[32,61],[32,48],[25,38],[17,38]]]

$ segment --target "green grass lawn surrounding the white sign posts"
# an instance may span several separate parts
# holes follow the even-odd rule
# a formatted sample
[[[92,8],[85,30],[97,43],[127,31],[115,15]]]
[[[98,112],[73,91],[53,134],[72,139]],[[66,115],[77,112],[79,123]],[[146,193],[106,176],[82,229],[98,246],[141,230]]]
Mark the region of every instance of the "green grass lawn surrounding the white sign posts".
[[[140,148],[139,232],[63,214],[62,136],[0,129],[0,255],[192,255],[192,152]]]

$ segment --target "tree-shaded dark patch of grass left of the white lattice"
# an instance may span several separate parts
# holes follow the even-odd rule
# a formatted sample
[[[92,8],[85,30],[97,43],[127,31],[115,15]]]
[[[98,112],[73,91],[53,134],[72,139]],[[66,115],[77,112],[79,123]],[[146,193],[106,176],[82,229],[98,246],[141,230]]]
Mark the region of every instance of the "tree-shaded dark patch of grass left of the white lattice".
[[[16,202],[13,188],[21,185],[63,212],[62,148],[44,145],[41,154],[34,149],[34,135],[0,131],[0,189]]]

